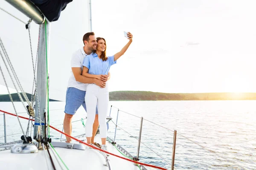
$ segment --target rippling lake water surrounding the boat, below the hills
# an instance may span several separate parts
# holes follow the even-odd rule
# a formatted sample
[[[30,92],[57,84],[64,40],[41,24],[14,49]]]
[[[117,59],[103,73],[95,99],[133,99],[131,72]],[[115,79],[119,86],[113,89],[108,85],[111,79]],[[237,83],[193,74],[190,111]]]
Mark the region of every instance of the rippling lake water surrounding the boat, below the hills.
[[[120,110],[116,143],[133,156],[137,153],[140,130],[138,117],[143,116],[141,162],[170,168],[173,130],[177,130],[176,170],[256,170],[256,101],[111,101],[110,104]],[[15,106],[17,112],[24,112],[21,103],[15,102]],[[64,102],[49,103],[50,125],[60,130],[64,106]],[[111,109],[113,122],[116,122],[116,108]],[[14,113],[11,102],[0,102],[0,110]],[[27,117],[26,113],[19,115]],[[79,108],[73,121],[85,116],[83,108]],[[27,121],[20,121],[25,130]],[[7,142],[19,140],[21,130],[17,118],[7,115],[6,122]],[[115,131],[113,122],[108,130],[111,139]],[[72,136],[81,133],[84,133],[81,121],[74,122]],[[3,135],[0,112],[0,143],[4,142]],[[61,137],[52,129],[50,135],[53,140]]]

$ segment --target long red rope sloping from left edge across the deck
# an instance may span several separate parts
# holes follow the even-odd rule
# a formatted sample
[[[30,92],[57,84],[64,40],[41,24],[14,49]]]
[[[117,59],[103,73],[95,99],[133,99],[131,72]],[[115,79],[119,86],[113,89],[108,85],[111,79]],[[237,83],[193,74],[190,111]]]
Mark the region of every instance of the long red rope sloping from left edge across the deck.
[[[16,116],[15,114],[8,113],[8,112],[6,112],[6,111],[0,110],[0,112],[6,113],[6,114],[10,114],[10,115],[12,115],[12,116]],[[29,118],[26,118],[26,117],[23,117],[23,116],[18,116],[18,117],[29,120]],[[35,121],[34,119],[30,119],[30,120]],[[98,148],[98,147],[95,147],[95,146],[93,146],[93,145],[87,144],[87,143],[85,143],[85,142],[83,142],[83,141],[81,141],[81,140],[79,140],[79,139],[76,139],[76,138],[74,138],[74,137],[68,135],[67,133],[61,132],[60,130],[56,129],[55,127],[52,127],[51,125],[49,125],[49,126],[50,126],[52,129],[58,131],[59,133],[62,133],[62,134],[64,134],[65,136],[68,136],[68,137],[70,137],[71,139],[76,140],[77,142],[80,142],[80,143],[85,144],[85,145],[87,145],[87,146],[89,146],[89,147],[92,147],[93,149],[96,149],[96,150],[99,150],[99,151],[108,153],[108,154],[110,154],[110,155],[116,156],[116,157],[121,158],[121,159],[125,159],[125,160],[127,160],[127,161],[131,161],[131,162],[133,162],[133,163],[135,163],[135,164],[141,164],[141,165],[145,165],[145,166],[148,166],[148,167],[154,167],[154,168],[157,168],[157,169],[160,169],[160,170],[167,170],[167,169],[165,169],[165,168],[163,168],[163,167],[157,167],[157,166],[154,166],[154,165],[151,165],[151,164],[145,164],[145,163],[142,163],[142,162],[134,161],[134,160],[131,160],[131,159],[128,159],[128,158],[124,158],[124,157],[122,157],[122,156],[115,155],[115,154],[113,154],[113,153],[110,153],[110,152],[108,152],[108,151],[102,150],[102,149],[100,149],[100,148]]]

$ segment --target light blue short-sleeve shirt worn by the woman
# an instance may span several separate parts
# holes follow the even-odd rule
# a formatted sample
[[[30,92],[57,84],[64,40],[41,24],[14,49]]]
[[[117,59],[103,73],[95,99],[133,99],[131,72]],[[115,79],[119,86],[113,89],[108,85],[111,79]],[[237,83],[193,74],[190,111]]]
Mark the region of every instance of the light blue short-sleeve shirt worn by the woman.
[[[108,74],[110,66],[113,64],[116,64],[114,56],[110,56],[106,61],[102,61],[96,53],[87,55],[83,62],[83,66],[89,69],[88,73],[94,75]]]

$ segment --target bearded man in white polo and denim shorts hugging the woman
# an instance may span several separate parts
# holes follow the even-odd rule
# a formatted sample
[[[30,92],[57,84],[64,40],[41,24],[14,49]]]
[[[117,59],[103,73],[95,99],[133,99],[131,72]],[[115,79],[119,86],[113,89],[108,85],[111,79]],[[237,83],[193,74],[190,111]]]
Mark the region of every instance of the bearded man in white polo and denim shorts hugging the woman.
[[[108,76],[102,77],[102,80],[87,78],[81,75],[83,69],[83,60],[88,54],[91,54],[93,50],[96,50],[97,39],[93,32],[88,32],[84,34],[83,37],[84,47],[76,51],[72,55],[71,68],[72,74],[70,76],[67,93],[66,93],[66,105],[65,105],[65,117],[63,122],[64,132],[68,135],[72,133],[72,117],[82,105],[86,111],[86,105],[84,102],[84,97],[86,93],[87,83],[95,83],[101,88],[106,87],[106,81],[109,79]],[[99,127],[98,121],[98,109],[96,108],[95,121],[93,123],[93,136],[91,141],[94,143],[94,136],[96,135],[97,129]],[[71,138],[66,136],[68,143],[71,142]]]

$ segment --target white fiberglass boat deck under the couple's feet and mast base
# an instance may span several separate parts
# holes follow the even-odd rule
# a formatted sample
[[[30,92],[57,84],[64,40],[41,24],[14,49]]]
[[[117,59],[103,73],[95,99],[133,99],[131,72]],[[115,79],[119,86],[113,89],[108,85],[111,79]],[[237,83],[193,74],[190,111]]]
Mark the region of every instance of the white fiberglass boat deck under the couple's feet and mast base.
[[[96,142],[100,143],[99,135],[96,135]],[[78,144],[75,141],[73,143]],[[107,142],[107,145],[109,152],[122,156],[112,144]],[[85,150],[67,149],[64,147],[55,147],[55,150],[69,170],[109,170],[109,167],[105,166],[105,156],[99,150],[88,148],[85,145],[84,147],[86,148]],[[59,159],[56,159],[58,156],[52,149],[50,149],[50,153],[56,170],[67,169]],[[116,156],[110,155],[108,159],[110,160],[111,170],[139,170],[139,167],[135,166],[134,163],[117,158]],[[47,150],[40,150],[38,153],[11,153],[11,150],[0,151],[0,164],[1,170],[53,169]]]

